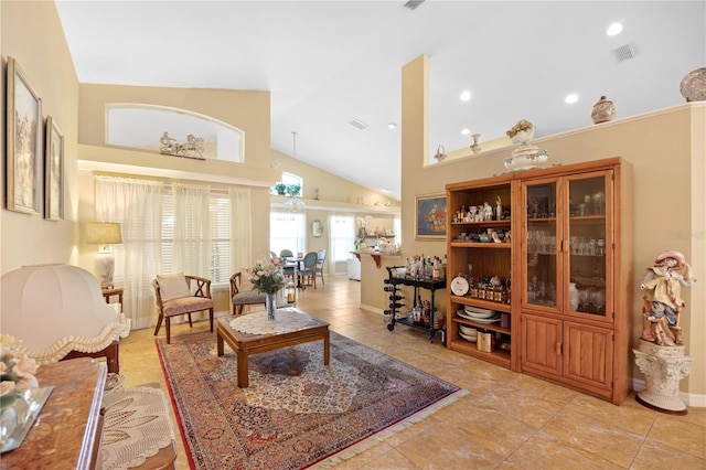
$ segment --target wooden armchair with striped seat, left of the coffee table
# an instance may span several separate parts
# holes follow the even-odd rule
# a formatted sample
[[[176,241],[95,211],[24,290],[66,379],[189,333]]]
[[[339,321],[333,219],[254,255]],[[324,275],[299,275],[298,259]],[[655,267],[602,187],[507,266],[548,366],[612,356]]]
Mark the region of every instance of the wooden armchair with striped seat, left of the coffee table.
[[[183,273],[160,276],[152,281],[159,319],[154,335],[159,333],[164,320],[167,344],[171,340],[170,320],[180,314],[189,316],[189,327],[193,328],[191,314],[208,310],[208,321],[213,333],[213,299],[211,298],[211,279],[189,276]]]

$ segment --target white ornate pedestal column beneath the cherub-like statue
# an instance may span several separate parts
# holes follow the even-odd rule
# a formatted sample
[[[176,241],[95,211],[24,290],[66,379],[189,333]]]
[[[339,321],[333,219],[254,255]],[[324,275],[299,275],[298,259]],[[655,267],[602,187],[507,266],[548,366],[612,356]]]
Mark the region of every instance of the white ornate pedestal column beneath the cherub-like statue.
[[[645,376],[646,387],[638,393],[637,400],[648,408],[672,415],[686,415],[680,399],[680,382],[692,372],[693,357],[684,355],[684,345],[661,346],[640,340],[632,352],[635,364]]]

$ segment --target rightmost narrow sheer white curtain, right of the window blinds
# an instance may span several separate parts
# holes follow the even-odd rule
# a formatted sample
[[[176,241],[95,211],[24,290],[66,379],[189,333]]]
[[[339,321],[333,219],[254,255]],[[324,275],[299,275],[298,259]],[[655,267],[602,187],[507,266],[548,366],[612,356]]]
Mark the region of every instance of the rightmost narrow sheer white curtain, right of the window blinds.
[[[229,188],[231,200],[231,271],[253,266],[253,220],[250,190]]]

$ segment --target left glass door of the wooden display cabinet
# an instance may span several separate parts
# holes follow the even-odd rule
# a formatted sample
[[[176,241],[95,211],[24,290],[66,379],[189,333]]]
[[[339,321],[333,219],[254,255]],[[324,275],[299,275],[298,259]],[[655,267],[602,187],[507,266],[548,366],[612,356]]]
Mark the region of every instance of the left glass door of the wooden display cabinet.
[[[557,309],[561,305],[557,242],[557,182],[532,182],[523,185],[526,207],[522,302],[525,306]]]

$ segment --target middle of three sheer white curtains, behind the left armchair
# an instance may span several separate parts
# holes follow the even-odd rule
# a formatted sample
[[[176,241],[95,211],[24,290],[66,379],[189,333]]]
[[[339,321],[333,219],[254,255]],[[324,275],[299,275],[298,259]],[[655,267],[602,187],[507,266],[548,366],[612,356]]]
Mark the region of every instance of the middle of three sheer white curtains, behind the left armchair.
[[[211,207],[207,185],[174,184],[173,273],[211,278]]]

